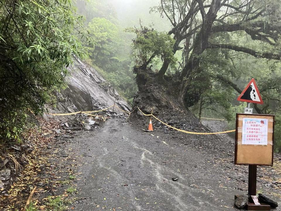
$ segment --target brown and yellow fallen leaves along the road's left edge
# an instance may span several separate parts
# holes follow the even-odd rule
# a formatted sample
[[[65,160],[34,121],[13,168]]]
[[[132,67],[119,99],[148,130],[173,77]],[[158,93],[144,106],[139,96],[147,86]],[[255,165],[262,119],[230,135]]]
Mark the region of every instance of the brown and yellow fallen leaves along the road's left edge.
[[[61,186],[60,177],[53,173],[53,166],[49,162],[50,152],[46,149],[54,144],[56,130],[59,129],[59,122],[50,120],[46,122],[37,118],[40,127],[32,127],[25,132],[24,142],[32,146],[30,154],[23,154],[21,159],[25,163],[22,171],[16,177],[16,181],[11,185],[10,190],[0,197],[0,205],[8,210],[23,210],[30,195],[30,191],[38,186],[33,195],[33,199],[45,192],[54,194],[54,188]],[[54,153],[54,151],[52,152]],[[35,200],[35,205],[40,210],[44,210],[46,205]]]

